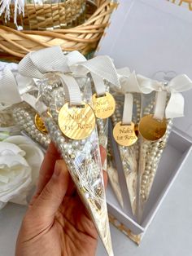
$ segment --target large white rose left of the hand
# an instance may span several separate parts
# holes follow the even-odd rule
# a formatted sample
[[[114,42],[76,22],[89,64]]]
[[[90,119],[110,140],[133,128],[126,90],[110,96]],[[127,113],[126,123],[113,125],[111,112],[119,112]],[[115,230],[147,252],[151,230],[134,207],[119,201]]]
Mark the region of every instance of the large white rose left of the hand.
[[[27,204],[43,157],[37,144],[25,136],[11,136],[0,142],[0,209],[8,201]]]

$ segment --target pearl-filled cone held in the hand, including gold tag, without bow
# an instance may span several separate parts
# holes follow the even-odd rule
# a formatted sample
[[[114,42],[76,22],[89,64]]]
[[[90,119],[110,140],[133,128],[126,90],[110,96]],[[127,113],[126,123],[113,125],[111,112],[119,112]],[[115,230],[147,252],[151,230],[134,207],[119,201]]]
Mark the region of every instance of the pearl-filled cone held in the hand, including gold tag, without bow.
[[[68,99],[72,99],[72,94],[68,97],[68,92],[64,88],[65,82],[71,78],[75,80],[81,90],[81,104],[70,106]],[[57,74],[50,74],[41,82],[37,105],[43,103],[47,106],[47,111],[41,115],[46,129],[66,161],[77,192],[89,211],[107,253],[113,255],[98,132],[95,126],[96,119],[95,116],[89,114],[92,104],[91,97],[89,77],[69,75],[67,80],[62,80]],[[78,99],[76,95],[74,99]],[[86,111],[87,108],[90,111]],[[66,113],[66,111],[70,111],[70,113]],[[70,120],[67,125],[65,125],[66,120]],[[74,123],[79,128],[77,132]],[[89,135],[85,136],[85,139],[81,139],[88,130]],[[68,133],[69,131],[70,133]],[[68,136],[64,134],[65,132]],[[76,139],[77,137],[78,139]]]

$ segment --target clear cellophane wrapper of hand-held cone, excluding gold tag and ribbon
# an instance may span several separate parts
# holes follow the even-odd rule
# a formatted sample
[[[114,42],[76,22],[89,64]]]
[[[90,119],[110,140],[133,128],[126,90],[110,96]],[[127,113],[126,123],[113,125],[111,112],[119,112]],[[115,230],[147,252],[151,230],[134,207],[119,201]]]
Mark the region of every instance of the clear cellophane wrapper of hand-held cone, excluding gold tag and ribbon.
[[[89,77],[74,78],[81,89],[82,101],[91,105]],[[62,83],[57,74],[47,75],[47,79],[41,81],[39,102],[47,107],[41,117],[51,140],[68,166],[81,201],[88,210],[107,253],[113,255],[97,127],[86,139],[73,140],[63,135],[58,124],[59,110],[67,102]]]

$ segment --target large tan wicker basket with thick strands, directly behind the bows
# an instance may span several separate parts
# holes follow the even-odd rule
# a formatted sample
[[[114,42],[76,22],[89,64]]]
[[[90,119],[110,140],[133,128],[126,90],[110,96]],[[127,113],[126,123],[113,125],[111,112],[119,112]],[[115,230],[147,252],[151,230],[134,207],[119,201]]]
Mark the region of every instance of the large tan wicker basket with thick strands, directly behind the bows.
[[[87,1],[85,23],[71,29],[17,31],[0,25],[0,58],[16,62],[29,51],[55,45],[60,45],[63,51],[76,50],[87,55],[98,46],[115,7],[116,3],[107,0],[96,1],[96,8]]]

